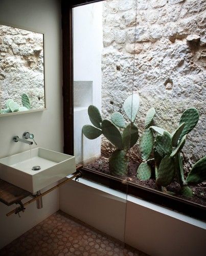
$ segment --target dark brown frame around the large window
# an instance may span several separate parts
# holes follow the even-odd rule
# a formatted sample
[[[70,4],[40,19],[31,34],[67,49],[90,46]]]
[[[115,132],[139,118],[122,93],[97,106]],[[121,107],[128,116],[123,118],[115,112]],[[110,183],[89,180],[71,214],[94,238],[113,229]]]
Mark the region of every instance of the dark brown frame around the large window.
[[[73,96],[73,8],[104,0],[62,0],[62,62],[63,62],[63,131],[64,153],[74,155],[74,96]],[[138,184],[122,182],[121,179],[103,175],[88,168],[82,169],[83,177],[128,195],[170,208],[188,216],[205,220],[206,207],[177,197],[166,195]]]

